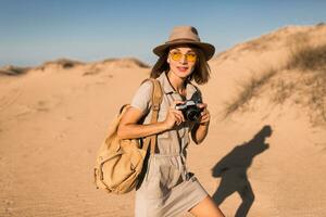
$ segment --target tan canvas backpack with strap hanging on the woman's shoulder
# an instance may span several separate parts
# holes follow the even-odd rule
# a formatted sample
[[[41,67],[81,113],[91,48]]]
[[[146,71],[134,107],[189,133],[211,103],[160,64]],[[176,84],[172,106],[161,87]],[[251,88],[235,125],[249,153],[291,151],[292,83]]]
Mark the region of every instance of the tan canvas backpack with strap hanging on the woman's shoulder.
[[[151,99],[151,123],[156,123],[162,101],[162,89],[159,80],[153,78],[146,80],[151,80],[154,87]],[[129,104],[123,106],[121,114],[111,123],[108,136],[98,151],[95,166],[97,188],[116,194],[127,193],[136,188],[140,181],[148,146],[151,144],[150,153],[154,153],[156,143],[156,135],[139,139],[118,139],[117,127],[129,106]]]

